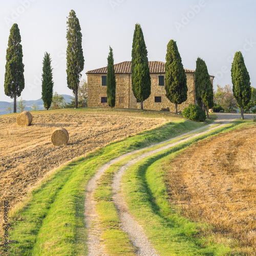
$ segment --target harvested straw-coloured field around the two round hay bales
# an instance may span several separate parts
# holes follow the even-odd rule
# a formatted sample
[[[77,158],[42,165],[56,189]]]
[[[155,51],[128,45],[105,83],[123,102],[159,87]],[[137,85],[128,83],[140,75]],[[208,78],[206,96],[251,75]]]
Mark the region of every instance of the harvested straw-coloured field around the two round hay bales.
[[[19,127],[16,116],[0,116],[0,224],[3,200],[13,208],[28,189],[50,170],[112,141],[153,129],[166,120],[101,114],[33,114],[31,126]],[[56,127],[69,132],[69,142],[53,146]]]

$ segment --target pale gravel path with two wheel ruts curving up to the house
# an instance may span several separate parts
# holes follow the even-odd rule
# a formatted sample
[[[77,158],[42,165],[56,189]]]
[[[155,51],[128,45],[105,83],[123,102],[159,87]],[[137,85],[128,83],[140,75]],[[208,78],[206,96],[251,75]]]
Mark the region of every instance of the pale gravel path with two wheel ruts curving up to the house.
[[[218,117],[217,120],[215,122],[213,122],[211,125],[219,123],[219,122],[222,122],[221,125],[225,125],[228,122],[231,122],[235,119],[239,119],[241,117],[241,115],[240,114],[226,114],[226,113],[219,114],[218,113],[217,117]],[[244,115],[245,119],[252,119],[252,117],[253,117],[252,114]],[[191,138],[197,137],[199,134],[201,135],[203,133],[206,133],[210,130],[217,128],[217,127],[214,127],[214,128],[208,129],[205,132],[200,133],[201,129],[204,129],[205,127],[210,127],[211,125],[207,125],[200,129],[194,130],[190,133],[187,133],[187,134],[191,134],[191,133],[198,131],[199,133],[197,133],[195,135],[191,135],[191,136],[189,136],[185,139],[182,139],[178,142],[167,144],[161,148],[158,148],[157,150],[142,154],[141,156],[131,160],[129,163],[126,163],[125,165],[121,166],[119,168],[118,172],[114,175],[113,184],[112,184],[113,193],[114,193],[113,200],[116,205],[116,208],[119,210],[119,216],[120,216],[120,220],[122,222],[121,227],[125,232],[127,232],[129,234],[134,245],[138,247],[138,252],[137,252],[138,255],[155,256],[155,255],[159,255],[159,254],[157,254],[156,250],[153,248],[150,241],[148,241],[142,227],[137,223],[137,221],[133,218],[133,216],[130,214],[129,210],[127,209],[127,205],[122,197],[121,189],[120,189],[121,178],[122,178],[123,173],[129,166],[131,166],[132,164],[135,164],[136,162],[138,162],[139,160],[141,160],[145,157],[151,156],[151,155],[153,155],[157,152],[163,151],[169,147],[175,146],[175,145],[185,142]],[[221,125],[219,125],[218,127],[220,127]],[[186,134],[177,136],[175,138],[158,143],[156,145],[160,145],[160,144],[163,144],[170,140],[174,140],[174,139],[183,137],[184,135],[186,135]],[[85,217],[85,221],[86,221],[86,227],[88,228],[88,249],[89,249],[88,255],[89,256],[108,255],[104,252],[104,248],[102,247],[102,245],[100,243],[100,233],[101,232],[100,232],[100,227],[98,224],[98,216],[97,216],[97,212],[96,212],[96,201],[94,201],[94,198],[93,198],[94,191],[97,187],[97,180],[101,177],[101,175],[105,172],[105,170],[110,167],[110,165],[118,162],[119,160],[121,160],[127,156],[130,156],[132,154],[143,151],[146,148],[150,148],[153,146],[155,146],[155,145],[145,147],[145,148],[142,148],[141,150],[137,150],[137,151],[134,151],[131,153],[126,153],[118,158],[113,159],[109,163],[102,166],[98,170],[96,175],[89,181],[88,187],[87,187],[86,201],[84,204],[84,207],[86,209],[85,213],[84,213],[84,217]]]

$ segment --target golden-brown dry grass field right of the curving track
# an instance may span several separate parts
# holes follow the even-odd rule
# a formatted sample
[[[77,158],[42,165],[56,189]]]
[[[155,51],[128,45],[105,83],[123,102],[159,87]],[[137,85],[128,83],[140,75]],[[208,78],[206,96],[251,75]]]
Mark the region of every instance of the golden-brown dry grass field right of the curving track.
[[[219,241],[238,240],[240,255],[256,252],[255,134],[250,126],[201,141],[166,174],[169,200],[182,215],[214,226]]]

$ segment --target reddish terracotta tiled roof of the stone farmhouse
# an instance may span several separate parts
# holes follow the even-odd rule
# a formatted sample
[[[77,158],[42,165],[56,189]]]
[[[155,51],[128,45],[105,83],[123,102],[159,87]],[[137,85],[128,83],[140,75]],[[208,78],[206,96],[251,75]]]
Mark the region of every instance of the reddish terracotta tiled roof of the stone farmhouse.
[[[162,61],[148,61],[150,73],[165,73],[165,63]],[[116,74],[131,74],[132,61],[123,61],[114,65]],[[185,73],[195,73],[194,70],[184,69]],[[106,67],[88,71],[87,74],[106,74]]]

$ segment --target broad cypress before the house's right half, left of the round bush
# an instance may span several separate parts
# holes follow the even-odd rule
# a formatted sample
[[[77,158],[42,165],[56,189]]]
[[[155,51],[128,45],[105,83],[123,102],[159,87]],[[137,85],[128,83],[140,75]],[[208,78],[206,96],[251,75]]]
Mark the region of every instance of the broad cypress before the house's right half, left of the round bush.
[[[178,104],[187,100],[187,78],[174,40],[170,40],[167,45],[165,91],[168,100],[175,103],[175,113],[177,114]]]

